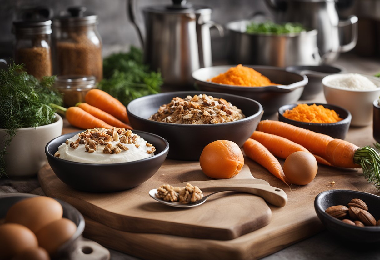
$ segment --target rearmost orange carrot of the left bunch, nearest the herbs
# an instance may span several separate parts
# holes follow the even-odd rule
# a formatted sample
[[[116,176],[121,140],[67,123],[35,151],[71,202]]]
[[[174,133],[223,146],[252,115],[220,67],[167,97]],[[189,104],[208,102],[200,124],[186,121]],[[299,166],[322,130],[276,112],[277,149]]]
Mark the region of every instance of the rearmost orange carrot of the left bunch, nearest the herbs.
[[[85,97],[86,103],[95,106],[117,119],[129,124],[127,108],[116,98],[100,89],[91,89]]]

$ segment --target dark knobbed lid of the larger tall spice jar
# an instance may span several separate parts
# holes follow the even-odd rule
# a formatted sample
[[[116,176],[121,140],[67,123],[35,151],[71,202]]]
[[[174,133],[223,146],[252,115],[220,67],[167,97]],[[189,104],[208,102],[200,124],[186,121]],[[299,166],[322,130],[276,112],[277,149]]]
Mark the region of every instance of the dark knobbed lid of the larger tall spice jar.
[[[94,13],[86,12],[85,6],[71,6],[67,8],[67,13],[55,17],[54,25],[62,27],[84,26],[98,23],[98,16]]]

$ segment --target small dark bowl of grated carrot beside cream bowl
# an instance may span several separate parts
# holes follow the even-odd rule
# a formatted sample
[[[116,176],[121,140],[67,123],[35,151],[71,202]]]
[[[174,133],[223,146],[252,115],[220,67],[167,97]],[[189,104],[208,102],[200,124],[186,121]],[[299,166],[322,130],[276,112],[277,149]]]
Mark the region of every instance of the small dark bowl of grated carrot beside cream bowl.
[[[279,121],[339,139],[346,137],[351,122],[350,111],[331,104],[288,104],[278,113]]]

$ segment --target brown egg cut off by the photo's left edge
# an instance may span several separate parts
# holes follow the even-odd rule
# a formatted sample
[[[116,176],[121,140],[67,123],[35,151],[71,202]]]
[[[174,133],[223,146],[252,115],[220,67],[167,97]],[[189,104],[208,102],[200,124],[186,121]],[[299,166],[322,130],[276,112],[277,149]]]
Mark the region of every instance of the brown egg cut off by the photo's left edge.
[[[12,258],[25,249],[37,247],[36,235],[29,228],[14,223],[0,225],[0,260]]]

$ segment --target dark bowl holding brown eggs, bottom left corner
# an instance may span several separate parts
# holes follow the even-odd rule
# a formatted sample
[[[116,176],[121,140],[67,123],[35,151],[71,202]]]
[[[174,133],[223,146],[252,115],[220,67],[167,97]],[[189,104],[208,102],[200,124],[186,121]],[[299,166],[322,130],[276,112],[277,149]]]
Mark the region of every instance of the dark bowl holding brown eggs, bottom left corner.
[[[25,198],[37,197],[38,195],[28,194],[28,193],[11,193],[0,196],[0,219],[5,218],[6,212],[15,203]],[[76,248],[76,241],[80,238],[83,233],[85,222],[82,214],[78,209],[74,208],[65,201],[57,200],[63,208],[63,217],[70,219],[76,225],[76,231],[74,235],[62,246],[59,247],[57,253],[54,255],[55,258],[67,259],[63,257],[68,257],[71,252]]]

